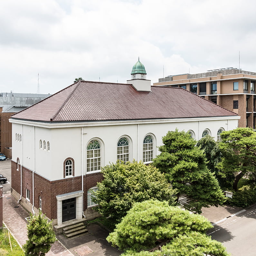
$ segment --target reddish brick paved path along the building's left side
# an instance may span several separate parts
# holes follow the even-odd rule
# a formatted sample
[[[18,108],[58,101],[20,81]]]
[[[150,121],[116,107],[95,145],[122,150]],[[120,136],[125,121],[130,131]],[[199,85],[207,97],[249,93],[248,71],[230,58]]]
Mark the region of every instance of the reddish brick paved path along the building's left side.
[[[23,245],[27,240],[27,221],[25,218],[29,216],[29,213],[14,200],[11,194],[4,194],[3,221],[20,245]],[[71,256],[73,254],[56,241],[46,255]]]

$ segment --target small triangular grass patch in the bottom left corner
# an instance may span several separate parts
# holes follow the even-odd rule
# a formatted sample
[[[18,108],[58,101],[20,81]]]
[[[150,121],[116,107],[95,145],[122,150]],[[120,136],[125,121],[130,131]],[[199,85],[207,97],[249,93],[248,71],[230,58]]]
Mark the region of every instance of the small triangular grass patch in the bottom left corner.
[[[9,243],[8,230],[6,228],[1,229],[0,230],[0,255],[23,256],[24,251],[20,248],[19,244],[16,242],[16,240],[13,238],[11,234],[10,234],[10,239],[11,239],[13,251],[11,251],[11,246]]]

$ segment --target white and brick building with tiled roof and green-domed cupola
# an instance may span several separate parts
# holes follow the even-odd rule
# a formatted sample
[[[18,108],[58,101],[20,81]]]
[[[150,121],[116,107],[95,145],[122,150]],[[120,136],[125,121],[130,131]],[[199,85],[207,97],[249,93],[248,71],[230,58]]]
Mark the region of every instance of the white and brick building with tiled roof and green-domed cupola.
[[[117,159],[150,162],[167,131],[216,137],[240,118],[183,88],[150,86],[141,62],[127,84],[78,81],[14,114],[12,195],[41,208],[54,225],[93,211],[100,167]]]

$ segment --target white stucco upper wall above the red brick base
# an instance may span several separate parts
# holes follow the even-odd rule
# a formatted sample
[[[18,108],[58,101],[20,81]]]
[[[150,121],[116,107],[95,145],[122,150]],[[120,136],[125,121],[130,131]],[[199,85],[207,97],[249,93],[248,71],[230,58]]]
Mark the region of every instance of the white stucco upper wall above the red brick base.
[[[63,162],[72,157],[75,162],[75,176],[86,174],[86,148],[90,140],[101,143],[101,166],[116,162],[117,142],[127,137],[130,142],[129,157],[143,158],[143,139],[147,134],[154,137],[154,157],[159,154],[157,147],[162,145],[162,137],[169,130],[192,130],[195,139],[202,137],[204,129],[216,137],[219,128],[232,130],[237,128],[239,117],[200,118],[177,120],[143,120],[117,122],[89,122],[69,124],[44,124],[12,119],[13,123],[13,160],[17,157],[20,164],[49,180],[63,178]],[[22,134],[22,141],[15,141],[16,133]],[[50,151],[39,148],[40,139],[50,142]]]

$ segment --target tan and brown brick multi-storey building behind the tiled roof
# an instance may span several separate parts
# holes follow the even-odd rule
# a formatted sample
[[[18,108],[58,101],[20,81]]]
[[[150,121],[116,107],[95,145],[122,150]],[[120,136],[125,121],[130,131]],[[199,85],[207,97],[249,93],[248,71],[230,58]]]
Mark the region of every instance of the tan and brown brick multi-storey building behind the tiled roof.
[[[255,128],[256,73],[236,68],[160,78],[155,86],[182,87],[237,113],[239,127]]]

